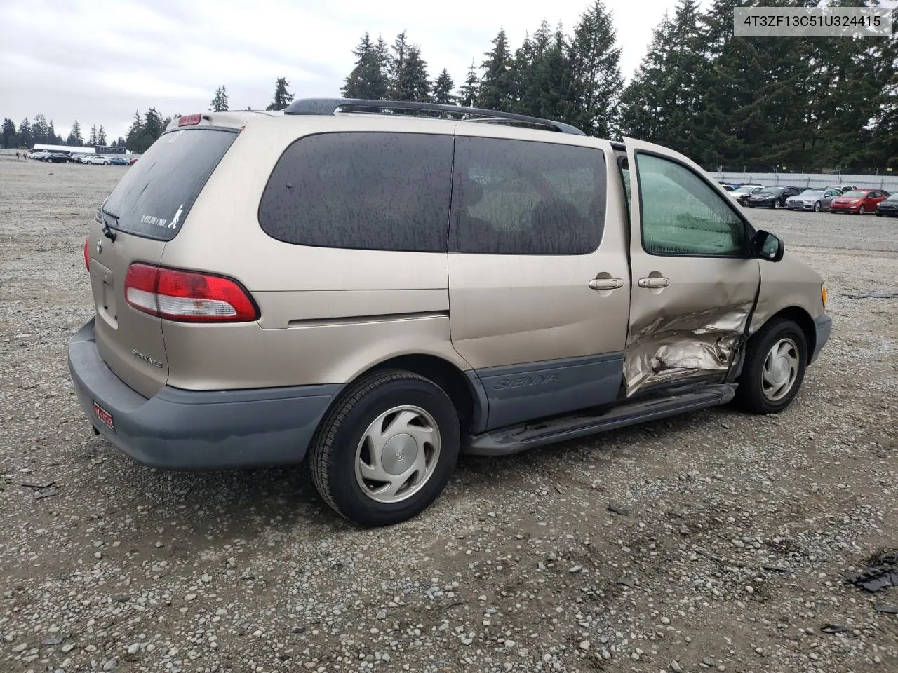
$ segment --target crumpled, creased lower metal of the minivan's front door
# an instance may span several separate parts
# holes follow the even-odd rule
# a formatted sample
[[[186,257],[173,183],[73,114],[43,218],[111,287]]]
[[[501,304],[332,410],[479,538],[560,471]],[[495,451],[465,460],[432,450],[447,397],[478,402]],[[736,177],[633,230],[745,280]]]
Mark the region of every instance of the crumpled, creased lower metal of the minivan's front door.
[[[704,310],[647,317],[631,326],[624,358],[627,396],[647,386],[729,371],[743,344],[754,298]]]

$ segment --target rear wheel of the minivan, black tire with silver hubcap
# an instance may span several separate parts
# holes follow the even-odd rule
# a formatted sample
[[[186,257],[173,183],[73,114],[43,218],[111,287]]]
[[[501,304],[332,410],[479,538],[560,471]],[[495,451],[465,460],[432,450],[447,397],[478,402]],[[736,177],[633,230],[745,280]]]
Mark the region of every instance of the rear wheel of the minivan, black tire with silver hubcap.
[[[409,415],[415,416],[412,423],[403,420]],[[401,432],[418,428],[423,438]],[[370,439],[378,435],[388,439],[375,459]],[[315,488],[341,516],[363,526],[390,526],[417,516],[443,492],[460,444],[458,414],[443,389],[410,371],[378,371],[340,394],[315,431],[309,461]],[[418,459],[421,469],[412,471]],[[394,471],[385,467],[387,460]],[[392,476],[397,469],[409,477],[393,494],[401,477],[390,482],[363,475]]]

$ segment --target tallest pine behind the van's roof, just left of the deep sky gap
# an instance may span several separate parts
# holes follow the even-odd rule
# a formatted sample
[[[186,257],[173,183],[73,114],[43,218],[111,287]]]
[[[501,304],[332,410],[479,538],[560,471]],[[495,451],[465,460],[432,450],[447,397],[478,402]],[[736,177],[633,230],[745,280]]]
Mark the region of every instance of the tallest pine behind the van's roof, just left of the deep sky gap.
[[[603,0],[580,14],[571,40],[573,118],[586,135],[610,138],[617,131],[618,101],[623,90],[621,48],[612,13]]]

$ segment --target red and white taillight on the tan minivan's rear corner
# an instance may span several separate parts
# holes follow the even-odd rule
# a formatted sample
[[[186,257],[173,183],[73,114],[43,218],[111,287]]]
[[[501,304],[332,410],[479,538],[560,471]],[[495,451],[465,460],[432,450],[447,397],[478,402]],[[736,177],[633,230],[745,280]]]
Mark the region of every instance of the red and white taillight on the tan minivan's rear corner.
[[[178,322],[251,322],[259,310],[241,284],[220,275],[132,264],[125,300],[136,310]]]

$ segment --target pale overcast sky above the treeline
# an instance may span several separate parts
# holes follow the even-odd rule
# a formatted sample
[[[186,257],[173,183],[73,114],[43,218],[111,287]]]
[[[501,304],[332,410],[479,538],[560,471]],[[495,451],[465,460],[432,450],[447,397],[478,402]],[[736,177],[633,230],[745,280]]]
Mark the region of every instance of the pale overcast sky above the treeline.
[[[625,76],[675,0],[605,0],[614,13]],[[225,84],[232,109],[264,108],[277,77],[297,97],[338,96],[364,31],[421,46],[431,76],[456,86],[505,28],[512,50],[543,18],[566,31],[590,0],[0,0],[0,117],[37,113],[67,135],[77,119],[110,142],[134,112],[163,117],[208,109]],[[707,0],[704,4],[707,4]]]

